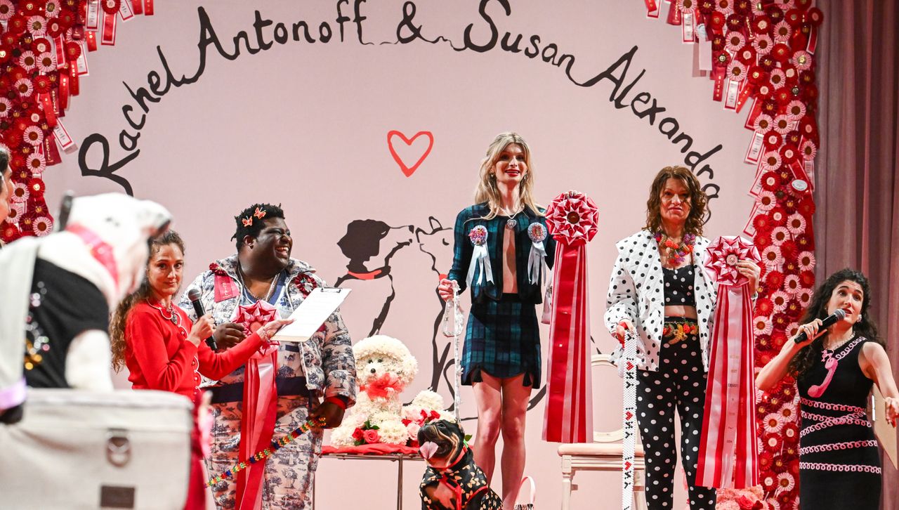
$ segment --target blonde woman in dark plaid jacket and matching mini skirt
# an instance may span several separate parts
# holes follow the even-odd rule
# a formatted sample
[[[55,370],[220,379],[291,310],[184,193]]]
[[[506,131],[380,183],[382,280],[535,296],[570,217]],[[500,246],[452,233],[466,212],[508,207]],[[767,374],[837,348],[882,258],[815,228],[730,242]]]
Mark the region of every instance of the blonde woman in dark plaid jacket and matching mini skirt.
[[[475,392],[475,461],[493,479],[495,447],[503,434],[504,508],[512,509],[524,471],[524,423],[532,389],[540,386],[540,338],[535,305],[542,302],[543,261],[555,242],[533,198],[530,148],[501,133],[487,148],[475,205],[458,213],[452,269],[438,291],[471,292],[462,384]]]

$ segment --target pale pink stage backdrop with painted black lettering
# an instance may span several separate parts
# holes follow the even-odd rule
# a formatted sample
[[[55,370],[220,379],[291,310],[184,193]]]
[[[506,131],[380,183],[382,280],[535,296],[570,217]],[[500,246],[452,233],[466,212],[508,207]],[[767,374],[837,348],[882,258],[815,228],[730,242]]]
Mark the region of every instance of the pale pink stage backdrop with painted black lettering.
[[[174,228],[188,245],[185,280],[190,281],[211,261],[233,253],[229,237],[239,210],[254,201],[280,202],[294,232],[293,255],[315,265],[327,282],[345,276],[348,265],[354,273],[381,269],[384,274],[389,267],[388,277],[343,284],[354,289],[343,307],[353,340],[378,326],[380,333],[400,338],[421,366],[407,398],[434,385],[448,403],[448,382],[440,376],[441,366],[432,362],[435,350],[442,353],[448,345],[442,336],[434,336],[441,314],[434,286],[437,274],[449,270],[449,228],[458,210],[472,200],[480,158],[496,133],[516,130],[529,140],[540,202],[574,188],[600,207],[600,232],[588,250],[593,336],[603,352],[610,351],[613,342],[600,325],[614,242],[643,224],[646,192],[655,172],[682,164],[686,156],[682,145],[672,144],[660,128],[676,130],[675,137],[686,133],[692,139],[690,151],[699,154],[722,146],[695,168],[699,172],[704,165],[710,167],[711,172],[699,178],[714,185],[708,192],[717,194],[710,201],[707,236],[743,230],[752,204],[746,191],[754,177],[754,166],[742,163],[749,141],[743,129],[746,112],[734,115],[721,103],[708,101],[712,83],[690,72],[698,61],[698,46],[677,42],[680,27],[646,21],[639,2],[615,3],[612,8],[608,2],[530,0],[514,3],[506,15],[503,4],[495,1],[486,3],[485,15],[493,20],[498,39],[494,48],[479,52],[453,48],[465,46],[469,24],[473,43],[490,41],[490,25],[478,13],[479,2],[415,5],[411,24],[421,26],[421,37],[442,36],[450,42],[390,44],[396,42],[404,18],[400,1],[360,4],[367,18],[360,22],[366,44],[358,40],[352,2],[260,4],[260,17],[285,23],[287,31],[292,23],[306,21],[316,42],[275,42],[271,49],[251,55],[241,41],[236,59],[223,58],[215,44],[208,44],[202,74],[165,94],[150,93],[158,102],[145,100],[148,112],[135,130],[122,107],[132,109],[129,115],[137,124],[143,110],[127,87],[139,95],[138,87],[148,88],[151,71],[165,82],[157,46],[176,78],[194,76],[200,66],[198,41],[211,37],[208,30],[200,35],[202,13],[227,53],[234,53],[239,31],[246,31],[250,46],[257,47],[254,8],[245,2],[158,3],[155,16],[120,25],[115,49],[88,55],[90,75],[63,119],[82,153],[73,152],[61,166],[49,168],[48,203],[57,204],[67,189],[77,194],[123,189],[122,182],[82,174],[102,167],[102,144],[92,137],[102,135],[109,140],[107,166],[130,158],[114,175],[127,180],[139,198],[159,201],[174,213]],[[338,6],[351,18],[343,24],[343,42],[335,21]],[[322,22],[333,31],[326,43],[317,28]],[[271,41],[273,30],[273,25],[263,28],[263,39]],[[531,48],[533,35],[539,36],[543,54],[552,51],[548,44],[556,44],[556,63],[562,54],[573,55],[570,76],[565,72],[570,59],[555,66],[524,51],[503,50],[507,31],[512,33],[509,41],[522,34],[522,50]],[[407,25],[399,31],[401,37],[412,33]],[[626,76],[624,63],[611,72],[624,85],[611,79],[575,85],[599,76],[635,46]],[[610,101],[616,89],[624,94],[618,104]],[[649,106],[629,106],[640,93],[646,93],[642,97],[649,105],[665,110],[654,118],[636,115]],[[666,117],[678,126],[663,123]],[[139,133],[136,149],[120,146],[122,130],[132,138]],[[390,130],[407,137],[432,133],[432,150],[409,176],[388,148]],[[406,166],[427,148],[425,137],[411,147],[397,138],[393,144]],[[353,230],[352,240],[338,246],[347,226],[359,219],[383,223]],[[386,236],[374,235],[385,226]],[[385,263],[388,254],[392,256]],[[392,292],[395,299],[378,324],[376,318]],[[597,428],[618,428],[618,377],[597,373],[594,387]],[[475,416],[470,389],[462,398],[462,415]],[[540,441],[542,413],[543,402],[536,402],[529,414],[526,472],[537,479],[538,507],[551,508],[560,498],[559,461],[556,444]],[[476,420],[465,425],[473,433]],[[394,467],[323,460],[318,507],[390,507],[395,501]],[[419,505],[422,471],[421,464],[406,466],[406,507]],[[581,474],[575,483],[580,488],[574,507],[611,508],[618,501],[618,476]],[[675,484],[676,507],[685,500],[681,484],[681,479]]]

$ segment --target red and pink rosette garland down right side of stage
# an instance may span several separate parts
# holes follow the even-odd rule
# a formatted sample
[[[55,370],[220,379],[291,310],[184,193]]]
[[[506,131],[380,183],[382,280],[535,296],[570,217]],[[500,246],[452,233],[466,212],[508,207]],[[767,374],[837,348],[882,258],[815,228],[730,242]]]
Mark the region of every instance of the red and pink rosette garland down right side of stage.
[[[814,0],[645,0],[645,7],[647,17],[679,27],[679,41],[699,46],[693,72],[714,81],[712,99],[727,111],[748,111],[743,126],[752,134],[743,162],[755,172],[755,203],[743,233],[765,264],[753,324],[761,367],[796,334],[814,289],[815,53],[824,15]],[[788,376],[760,393],[753,411],[767,506],[797,506],[798,405]],[[765,426],[770,420],[786,422],[784,430]]]

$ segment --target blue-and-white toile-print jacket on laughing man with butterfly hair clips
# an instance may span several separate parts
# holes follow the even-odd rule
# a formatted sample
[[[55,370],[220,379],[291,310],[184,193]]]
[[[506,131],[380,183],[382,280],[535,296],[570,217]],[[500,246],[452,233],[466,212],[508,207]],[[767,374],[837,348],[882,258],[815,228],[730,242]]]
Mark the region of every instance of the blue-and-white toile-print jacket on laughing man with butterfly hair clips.
[[[216,261],[218,267],[227,273],[238,289],[242,289],[237,279],[237,255]],[[315,269],[305,262],[290,259],[287,266],[287,289],[285,298],[279,303],[282,316],[303,302],[309,291],[315,287],[325,287],[325,282],[315,274]],[[215,323],[229,322],[240,301],[240,296],[215,302],[215,274],[211,270],[204,271],[188,286],[200,291],[200,302],[203,309],[212,314]],[[178,302],[191,320],[197,319],[191,301],[187,299],[187,291]],[[299,353],[293,352],[298,346]],[[298,360],[302,355],[308,373],[303,373]],[[343,324],[340,310],[334,312],[325,321],[308,342],[301,344],[281,344],[278,353],[278,377],[306,376],[310,386],[317,389],[319,395],[325,397],[341,397],[352,405],[356,400],[356,361],[352,355],[350,333]],[[223,377],[220,382],[228,384],[244,380],[244,367]]]

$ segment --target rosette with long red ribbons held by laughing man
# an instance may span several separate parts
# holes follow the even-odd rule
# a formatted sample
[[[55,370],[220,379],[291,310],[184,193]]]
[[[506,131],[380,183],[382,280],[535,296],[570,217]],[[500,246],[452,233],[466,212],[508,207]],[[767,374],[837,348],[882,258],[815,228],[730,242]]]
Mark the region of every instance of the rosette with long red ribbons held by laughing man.
[[[238,306],[232,321],[243,326],[246,335],[252,335],[276,318],[279,318],[278,309],[259,300],[249,307]],[[278,344],[263,346],[246,362],[243,413],[240,417],[241,459],[268,448],[271,443],[278,414],[277,374]],[[237,508],[258,508],[261,505],[264,471],[265,462],[256,462],[237,473]]]

